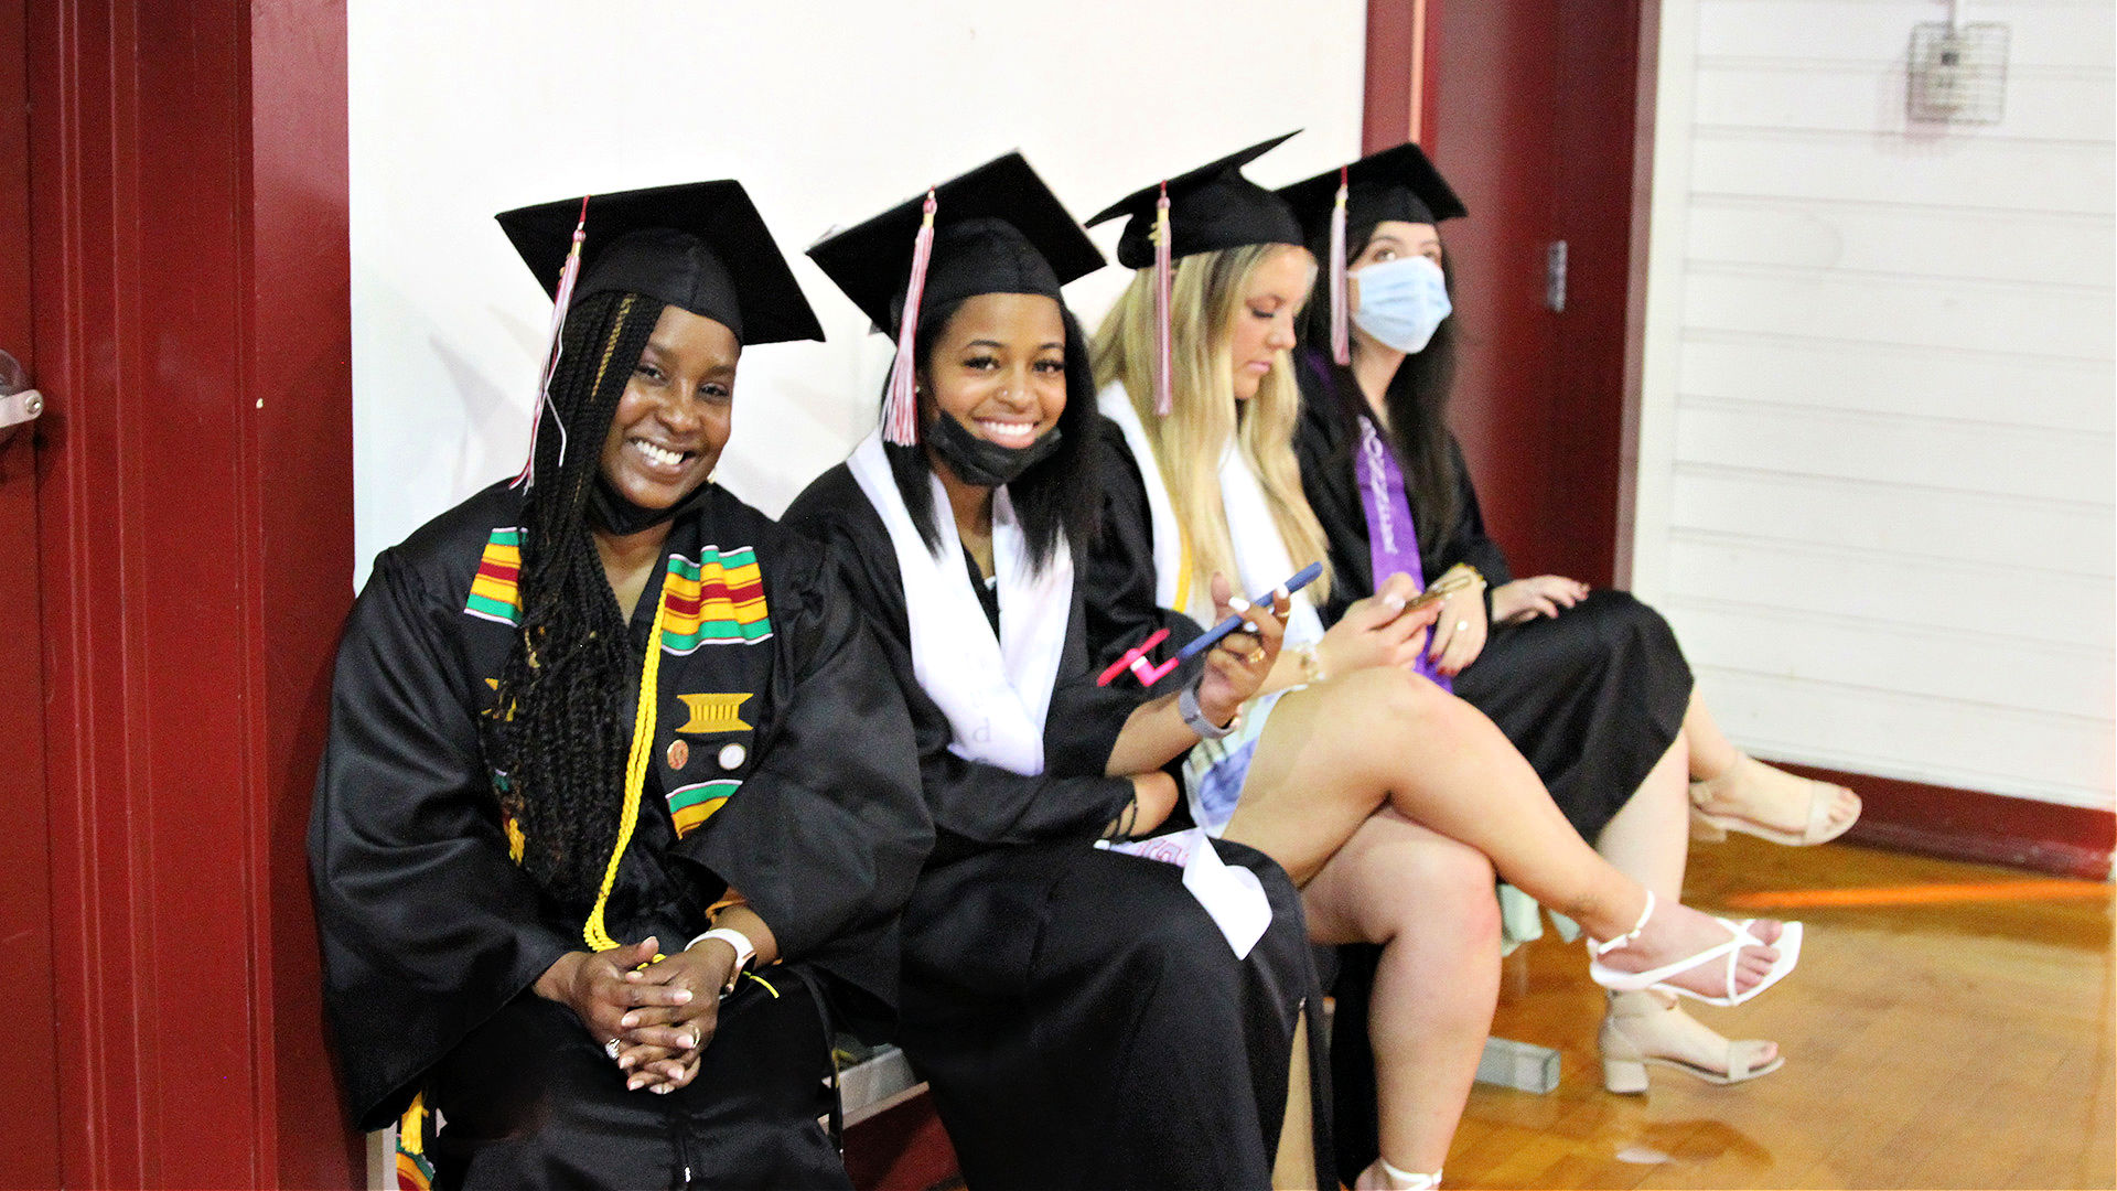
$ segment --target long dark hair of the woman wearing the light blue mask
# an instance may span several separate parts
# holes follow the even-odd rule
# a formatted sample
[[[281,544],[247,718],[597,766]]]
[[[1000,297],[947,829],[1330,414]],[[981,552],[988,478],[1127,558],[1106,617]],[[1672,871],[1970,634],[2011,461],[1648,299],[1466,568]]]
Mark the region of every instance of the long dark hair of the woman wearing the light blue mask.
[[[1378,218],[1361,218],[1357,210],[1346,212],[1346,265],[1368,250]],[[1313,242],[1310,252],[1323,263],[1317,269],[1317,290],[1302,314],[1302,345],[1323,369],[1327,386],[1342,401],[1355,403],[1344,413],[1351,417],[1365,407],[1359,379],[1353,369],[1329,358],[1329,233]],[[1454,267],[1442,252],[1442,278],[1448,282],[1448,299],[1454,301]],[[1433,331],[1423,352],[1410,354],[1397,365],[1382,392],[1389,409],[1389,445],[1397,449],[1397,464],[1404,468],[1404,487],[1412,500],[1412,521],[1421,526],[1421,543],[1442,543],[1454,528],[1461,496],[1456,485],[1456,462],[1452,434],[1448,432],[1448,398],[1454,394],[1456,375],[1456,316],[1448,316]],[[1351,466],[1351,462],[1346,464]]]

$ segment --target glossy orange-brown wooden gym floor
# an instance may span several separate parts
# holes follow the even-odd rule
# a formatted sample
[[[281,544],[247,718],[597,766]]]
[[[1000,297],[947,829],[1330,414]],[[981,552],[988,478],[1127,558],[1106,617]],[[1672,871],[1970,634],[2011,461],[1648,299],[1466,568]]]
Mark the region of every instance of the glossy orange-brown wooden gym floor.
[[[2109,892],[1835,843],[1700,843],[1687,901],[1802,918],[1808,941],[1755,1002],[1685,1005],[1776,1038],[1787,1066],[1734,1087],[1649,1066],[1647,1096],[1605,1094],[1603,996],[1581,947],[1545,935],[1505,960],[1492,1032],[1562,1051],[1560,1087],[1478,1085],[1448,1187],[2113,1187]],[[1831,899],[1852,905],[1776,905]]]

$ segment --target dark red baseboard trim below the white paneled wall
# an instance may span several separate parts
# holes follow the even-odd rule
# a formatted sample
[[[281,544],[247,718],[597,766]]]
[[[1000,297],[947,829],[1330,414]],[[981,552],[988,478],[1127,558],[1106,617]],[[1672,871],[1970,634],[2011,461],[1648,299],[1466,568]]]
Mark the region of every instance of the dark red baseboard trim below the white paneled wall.
[[[1859,793],[1863,810],[1846,833],[1850,843],[2011,865],[2060,877],[2111,879],[2111,856],[2117,854],[2113,812],[1840,774],[1789,761],[1774,765]]]

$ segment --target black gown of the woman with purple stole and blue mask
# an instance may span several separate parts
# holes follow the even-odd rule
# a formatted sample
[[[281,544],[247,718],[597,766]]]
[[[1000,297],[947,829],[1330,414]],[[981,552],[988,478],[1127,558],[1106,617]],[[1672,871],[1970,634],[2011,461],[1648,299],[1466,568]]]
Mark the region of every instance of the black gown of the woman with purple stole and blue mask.
[[[1349,401],[1359,396],[1344,396],[1351,379],[1334,386],[1306,360],[1296,373],[1302,417],[1293,447],[1302,490],[1329,538],[1325,623],[1336,623],[1346,604],[1374,593],[1368,515],[1353,470],[1359,426]],[[1452,439],[1450,456],[1459,513],[1446,534],[1418,526],[1421,562],[1427,579],[1467,562],[1499,587],[1512,570],[1484,532],[1469,466]],[[1624,591],[1592,591],[1556,619],[1492,625],[1454,693],[1507,733],[1575,831],[1594,841],[1683,729],[1691,668],[1660,612]]]

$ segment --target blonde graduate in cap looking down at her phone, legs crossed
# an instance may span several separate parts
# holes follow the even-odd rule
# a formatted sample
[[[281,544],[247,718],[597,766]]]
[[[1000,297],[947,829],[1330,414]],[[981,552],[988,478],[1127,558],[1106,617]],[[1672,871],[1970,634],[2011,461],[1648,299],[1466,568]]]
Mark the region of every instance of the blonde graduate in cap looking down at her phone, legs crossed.
[[[1315,259],[1287,201],[1241,174],[1279,140],[1097,216],[1126,220],[1118,261],[1137,269],[1094,339],[1099,403],[1133,464],[1107,483],[1141,483],[1147,506],[1111,526],[1105,551],[1126,557],[1097,570],[1152,572],[1164,608],[1192,606],[1213,570],[1270,591],[1327,557],[1293,454]],[[1359,1191],[1431,1189],[1492,1024],[1495,871],[1600,941],[1605,988],[1736,1002],[1791,971],[1799,930],[1711,920],[1622,873],[1490,718],[1414,670],[1435,604],[1416,604],[1408,574],[1323,627],[1308,598],[1329,589],[1325,574],[1300,593],[1260,697],[1186,761],[1186,795],[1202,824],[1287,869],[1315,941],[1380,947],[1368,1011],[1340,1000],[1334,1026],[1334,1055],[1376,1087],[1370,1144],[1340,1146],[1340,1170],[1359,1170]],[[1361,1024],[1368,1053],[1346,1055]]]

